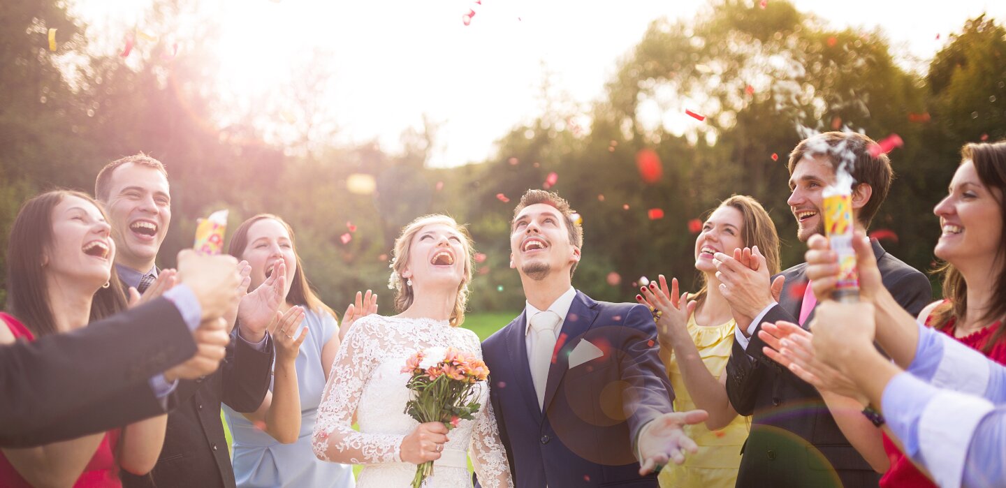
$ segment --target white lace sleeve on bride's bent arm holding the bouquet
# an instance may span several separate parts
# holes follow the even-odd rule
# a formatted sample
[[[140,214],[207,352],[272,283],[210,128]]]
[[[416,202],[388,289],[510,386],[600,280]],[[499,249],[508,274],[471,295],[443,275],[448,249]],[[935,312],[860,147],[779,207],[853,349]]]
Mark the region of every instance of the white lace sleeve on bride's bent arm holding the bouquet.
[[[325,392],[318,406],[312,446],[323,461],[346,464],[400,462],[404,436],[363,434],[353,429],[353,412],[363,387],[377,366],[387,334],[380,317],[364,317],[353,325],[339,346]]]

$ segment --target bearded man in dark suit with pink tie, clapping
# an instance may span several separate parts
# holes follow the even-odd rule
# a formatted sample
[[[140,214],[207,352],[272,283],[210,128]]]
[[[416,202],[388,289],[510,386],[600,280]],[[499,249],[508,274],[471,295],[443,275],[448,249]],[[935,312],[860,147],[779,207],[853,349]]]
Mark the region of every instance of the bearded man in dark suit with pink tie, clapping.
[[[873,156],[875,143],[860,134],[830,132],[801,142],[790,155],[788,200],[801,241],[824,233],[822,189],[835,182],[835,166],[851,162],[852,206],[857,223],[868,228],[887,196],[892,171],[885,154]],[[925,275],[884,252],[873,241],[884,286],[912,315],[925,307],[932,289]],[[820,392],[763,353],[761,324],[786,320],[803,326],[814,315],[806,264],[784,271],[771,288],[782,285],[779,302],[770,291],[764,259],[740,263],[722,254],[715,263],[723,296],[737,320],[736,340],[726,365],[726,392],[733,408],[753,415],[742,449],[738,487],[877,486],[886,470],[880,431],[855,414],[863,405],[852,398]],[[758,271],[752,271],[757,268]],[[785,280],[785,282],[783,281]],[[832,413],[843,413],[834,416]],[[852,412],[853,415],[844,413]],[[870,462],[860,454],[870,452]]]

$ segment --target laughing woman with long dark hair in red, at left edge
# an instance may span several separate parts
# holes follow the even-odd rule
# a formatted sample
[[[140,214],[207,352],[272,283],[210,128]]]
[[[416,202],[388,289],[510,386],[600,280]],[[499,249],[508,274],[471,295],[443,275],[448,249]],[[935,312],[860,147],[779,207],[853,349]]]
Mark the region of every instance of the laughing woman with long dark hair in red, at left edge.
[[[50,191],[28,200],[10,233],[11,314],[0,314],[0,344],[67,333],[124,310],[125,294],[112,273],[115,252],[105,213],[90,196]],[[71,441],[3,449],[0,486],[121,487],[120,469],[153,469],[166,422],[159,416]]]

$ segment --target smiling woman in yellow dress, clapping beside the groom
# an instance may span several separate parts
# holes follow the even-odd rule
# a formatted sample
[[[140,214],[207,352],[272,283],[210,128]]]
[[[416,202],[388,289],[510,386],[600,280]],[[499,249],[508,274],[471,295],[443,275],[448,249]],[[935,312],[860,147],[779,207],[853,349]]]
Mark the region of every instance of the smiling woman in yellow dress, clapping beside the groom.
[[[750,248],[747,252],[745,248]],[[705,424],[685,426],[698,444],[697,454],[682,465],[667,465],[660,486],[727,488],[737,478],[740,448],[747,439],[749,419],[738,417],[726,397],[726,360],[733,346],[736,323],[719,291],[713,255],[738,251],[742,262],[767,266],[779,273],[779,234],[769,213],[754,198],[733,195],[716,207],[695,239],[695,269],[703,286],[698,293],[678,297],[677,279],[660,276],[636,299],[659,314],[660,357],[674,386],[674,410],[702,409]],[[749,253],[749,254],[748,254]]]

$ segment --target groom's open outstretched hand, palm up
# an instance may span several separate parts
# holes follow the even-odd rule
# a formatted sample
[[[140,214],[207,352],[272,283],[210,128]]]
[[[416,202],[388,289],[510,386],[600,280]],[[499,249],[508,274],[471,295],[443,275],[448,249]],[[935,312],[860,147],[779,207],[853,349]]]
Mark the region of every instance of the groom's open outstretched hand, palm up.
[[[698,445],[685,435],[684,426],[701,424],[709,418],[705,411],[671,412],[647,424],[639,436],[640,476],[646,476],[668,461],[685,462],[685,453],[695,454]]]

